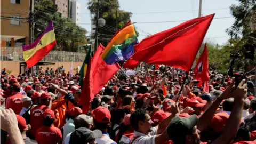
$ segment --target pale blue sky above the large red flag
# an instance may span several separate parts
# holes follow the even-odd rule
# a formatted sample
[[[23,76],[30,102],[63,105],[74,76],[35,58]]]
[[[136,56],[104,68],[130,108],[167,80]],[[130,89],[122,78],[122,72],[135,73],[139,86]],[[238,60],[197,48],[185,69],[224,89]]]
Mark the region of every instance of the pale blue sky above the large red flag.
[[[103,1],[103,0],[101,0]],[[90,12],[87,9],[87,0],[78,0],[81,3],[81,24],[87,31],[91,31],[91,25],[82,23],[91,23]],[[119,0],[120,9],[132,12],[132,22],[138,28],[139,41],[146,37],[147,34],[159,33],[163,30],[170,29],[182,22],[165,22],[165,23],[140,23],[140,22],[161,22],[161,21],[180,21],[189,20],[198,17],[199,0]],[[215,13],[214,18],[231,17],[229,6],[238,4],[235,0],[203,0],[202,14],[209,15]],[[213,10],[214,9],[214,10]],[[186,12],[175,12],[186,11]],[[165,13],[159,13],[165,12]],[[225,32],[234,22],[233,18],[213,19],[205,38],[211,41],[224,44],[228,41],[229,36]]]

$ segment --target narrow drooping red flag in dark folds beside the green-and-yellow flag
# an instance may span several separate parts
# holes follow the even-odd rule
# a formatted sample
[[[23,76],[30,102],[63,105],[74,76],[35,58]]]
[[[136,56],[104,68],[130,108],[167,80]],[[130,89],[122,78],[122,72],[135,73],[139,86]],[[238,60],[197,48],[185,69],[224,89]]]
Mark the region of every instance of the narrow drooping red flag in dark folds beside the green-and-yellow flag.
[[[86,114],[90,110],[90,102],[94,99],[93,94],[93,81],[92,81],[92,57],[91,49],[89,49],[89,61],[87,64],[86,75],[83,81],[83,87],[81,91],[81,97],[79,98],[78,105],[83,108],[83,114]],[[83,77],[81,77],[83,78]]]

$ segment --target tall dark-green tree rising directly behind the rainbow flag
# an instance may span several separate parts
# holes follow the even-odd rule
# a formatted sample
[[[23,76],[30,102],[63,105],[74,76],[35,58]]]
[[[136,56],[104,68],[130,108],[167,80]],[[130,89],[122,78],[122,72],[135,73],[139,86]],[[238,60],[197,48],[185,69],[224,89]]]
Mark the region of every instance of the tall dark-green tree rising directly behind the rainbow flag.
[[[99,0],[99,18],[106,20],[104,27],[99,27],[99,40],[98,43],[107,45],[111,37],[116,33],[116,13],[117,13],[117,28],[121,29],[130,20],[132,13],[119,9],[118,0]],[[98,0],[90,0],[88,3],[88,9],[91,13],[92,19],[97,19],[98,12]]]

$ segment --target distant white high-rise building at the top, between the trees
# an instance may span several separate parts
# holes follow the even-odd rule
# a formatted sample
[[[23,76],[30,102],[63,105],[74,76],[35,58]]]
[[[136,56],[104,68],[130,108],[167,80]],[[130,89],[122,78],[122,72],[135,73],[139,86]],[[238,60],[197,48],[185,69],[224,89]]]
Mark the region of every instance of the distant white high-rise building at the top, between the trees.
[[[69,18],[76,24],[80,23],[81,4],[75,0],[69,0]]]

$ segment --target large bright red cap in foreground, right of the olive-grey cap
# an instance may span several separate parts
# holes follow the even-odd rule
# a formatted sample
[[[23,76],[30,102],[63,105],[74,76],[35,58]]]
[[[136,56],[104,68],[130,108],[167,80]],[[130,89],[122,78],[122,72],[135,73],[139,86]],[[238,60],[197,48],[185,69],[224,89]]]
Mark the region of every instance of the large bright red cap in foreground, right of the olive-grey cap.
[[[94,118],[94,120],[99,123],[109,123],[111,119],[109,110],[101,106],[92,110],[91,115]]]

